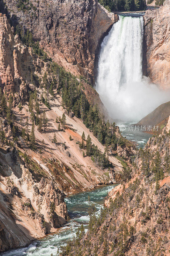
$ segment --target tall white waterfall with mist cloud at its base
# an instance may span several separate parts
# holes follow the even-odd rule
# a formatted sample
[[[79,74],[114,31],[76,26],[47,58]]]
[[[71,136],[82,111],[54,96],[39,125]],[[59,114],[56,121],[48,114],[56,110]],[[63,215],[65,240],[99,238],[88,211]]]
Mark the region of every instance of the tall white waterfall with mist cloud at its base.
[[[170,94],[142,76],[143,17],[123,17],[103,39],[96,91],[112,118],[139,121]]]

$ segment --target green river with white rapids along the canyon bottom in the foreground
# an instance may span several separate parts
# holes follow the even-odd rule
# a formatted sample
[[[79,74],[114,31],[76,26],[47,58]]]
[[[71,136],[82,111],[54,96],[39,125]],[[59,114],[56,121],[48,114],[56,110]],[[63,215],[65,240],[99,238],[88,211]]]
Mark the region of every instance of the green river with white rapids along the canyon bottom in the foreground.
[[[70,221],[59,229],[55,234],[50,234],[42,239],[34,241],[28,247],[10,250],[2,253],[3,256],[50,256],[56,255],[58,248],[76,234],[78,227],[84,225],[85,231],[88,228],[88,196],[90,201],[95,204],[97,212],[103,207],[107,192],[116,185],[99,186],[91,191],[81,192],[65,198]]]

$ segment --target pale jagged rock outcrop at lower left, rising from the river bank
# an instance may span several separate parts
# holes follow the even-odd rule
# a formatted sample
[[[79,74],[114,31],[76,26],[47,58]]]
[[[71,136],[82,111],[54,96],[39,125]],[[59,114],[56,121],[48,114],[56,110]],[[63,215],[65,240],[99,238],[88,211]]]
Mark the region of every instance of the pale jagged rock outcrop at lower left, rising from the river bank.
[[[54,232],[68,218],[64,195],[47,171],[41,169],[41,178],[15,148],[9,150],[0,152],[0,251]]]

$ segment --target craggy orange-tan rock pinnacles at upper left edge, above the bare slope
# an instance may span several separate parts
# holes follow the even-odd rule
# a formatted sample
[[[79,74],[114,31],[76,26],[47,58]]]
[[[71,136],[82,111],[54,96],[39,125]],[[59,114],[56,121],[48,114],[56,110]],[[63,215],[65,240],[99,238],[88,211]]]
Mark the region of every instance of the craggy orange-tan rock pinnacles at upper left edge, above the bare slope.
[[[14,93],[14,104],[27,100],[33,89],[30,71],[37,68],[35,61],[31,49],[14,36],[6,15],[0,13],[0,86],[8,95]],[[39,61],[39,68],[43,65]]]

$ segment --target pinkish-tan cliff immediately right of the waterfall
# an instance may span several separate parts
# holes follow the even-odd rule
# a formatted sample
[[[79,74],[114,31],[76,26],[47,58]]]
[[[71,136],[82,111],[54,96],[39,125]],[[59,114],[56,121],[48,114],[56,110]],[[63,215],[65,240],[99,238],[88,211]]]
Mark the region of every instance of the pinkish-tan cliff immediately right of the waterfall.
[[[144,15],[144,75],[170,84],[170,1]]]

